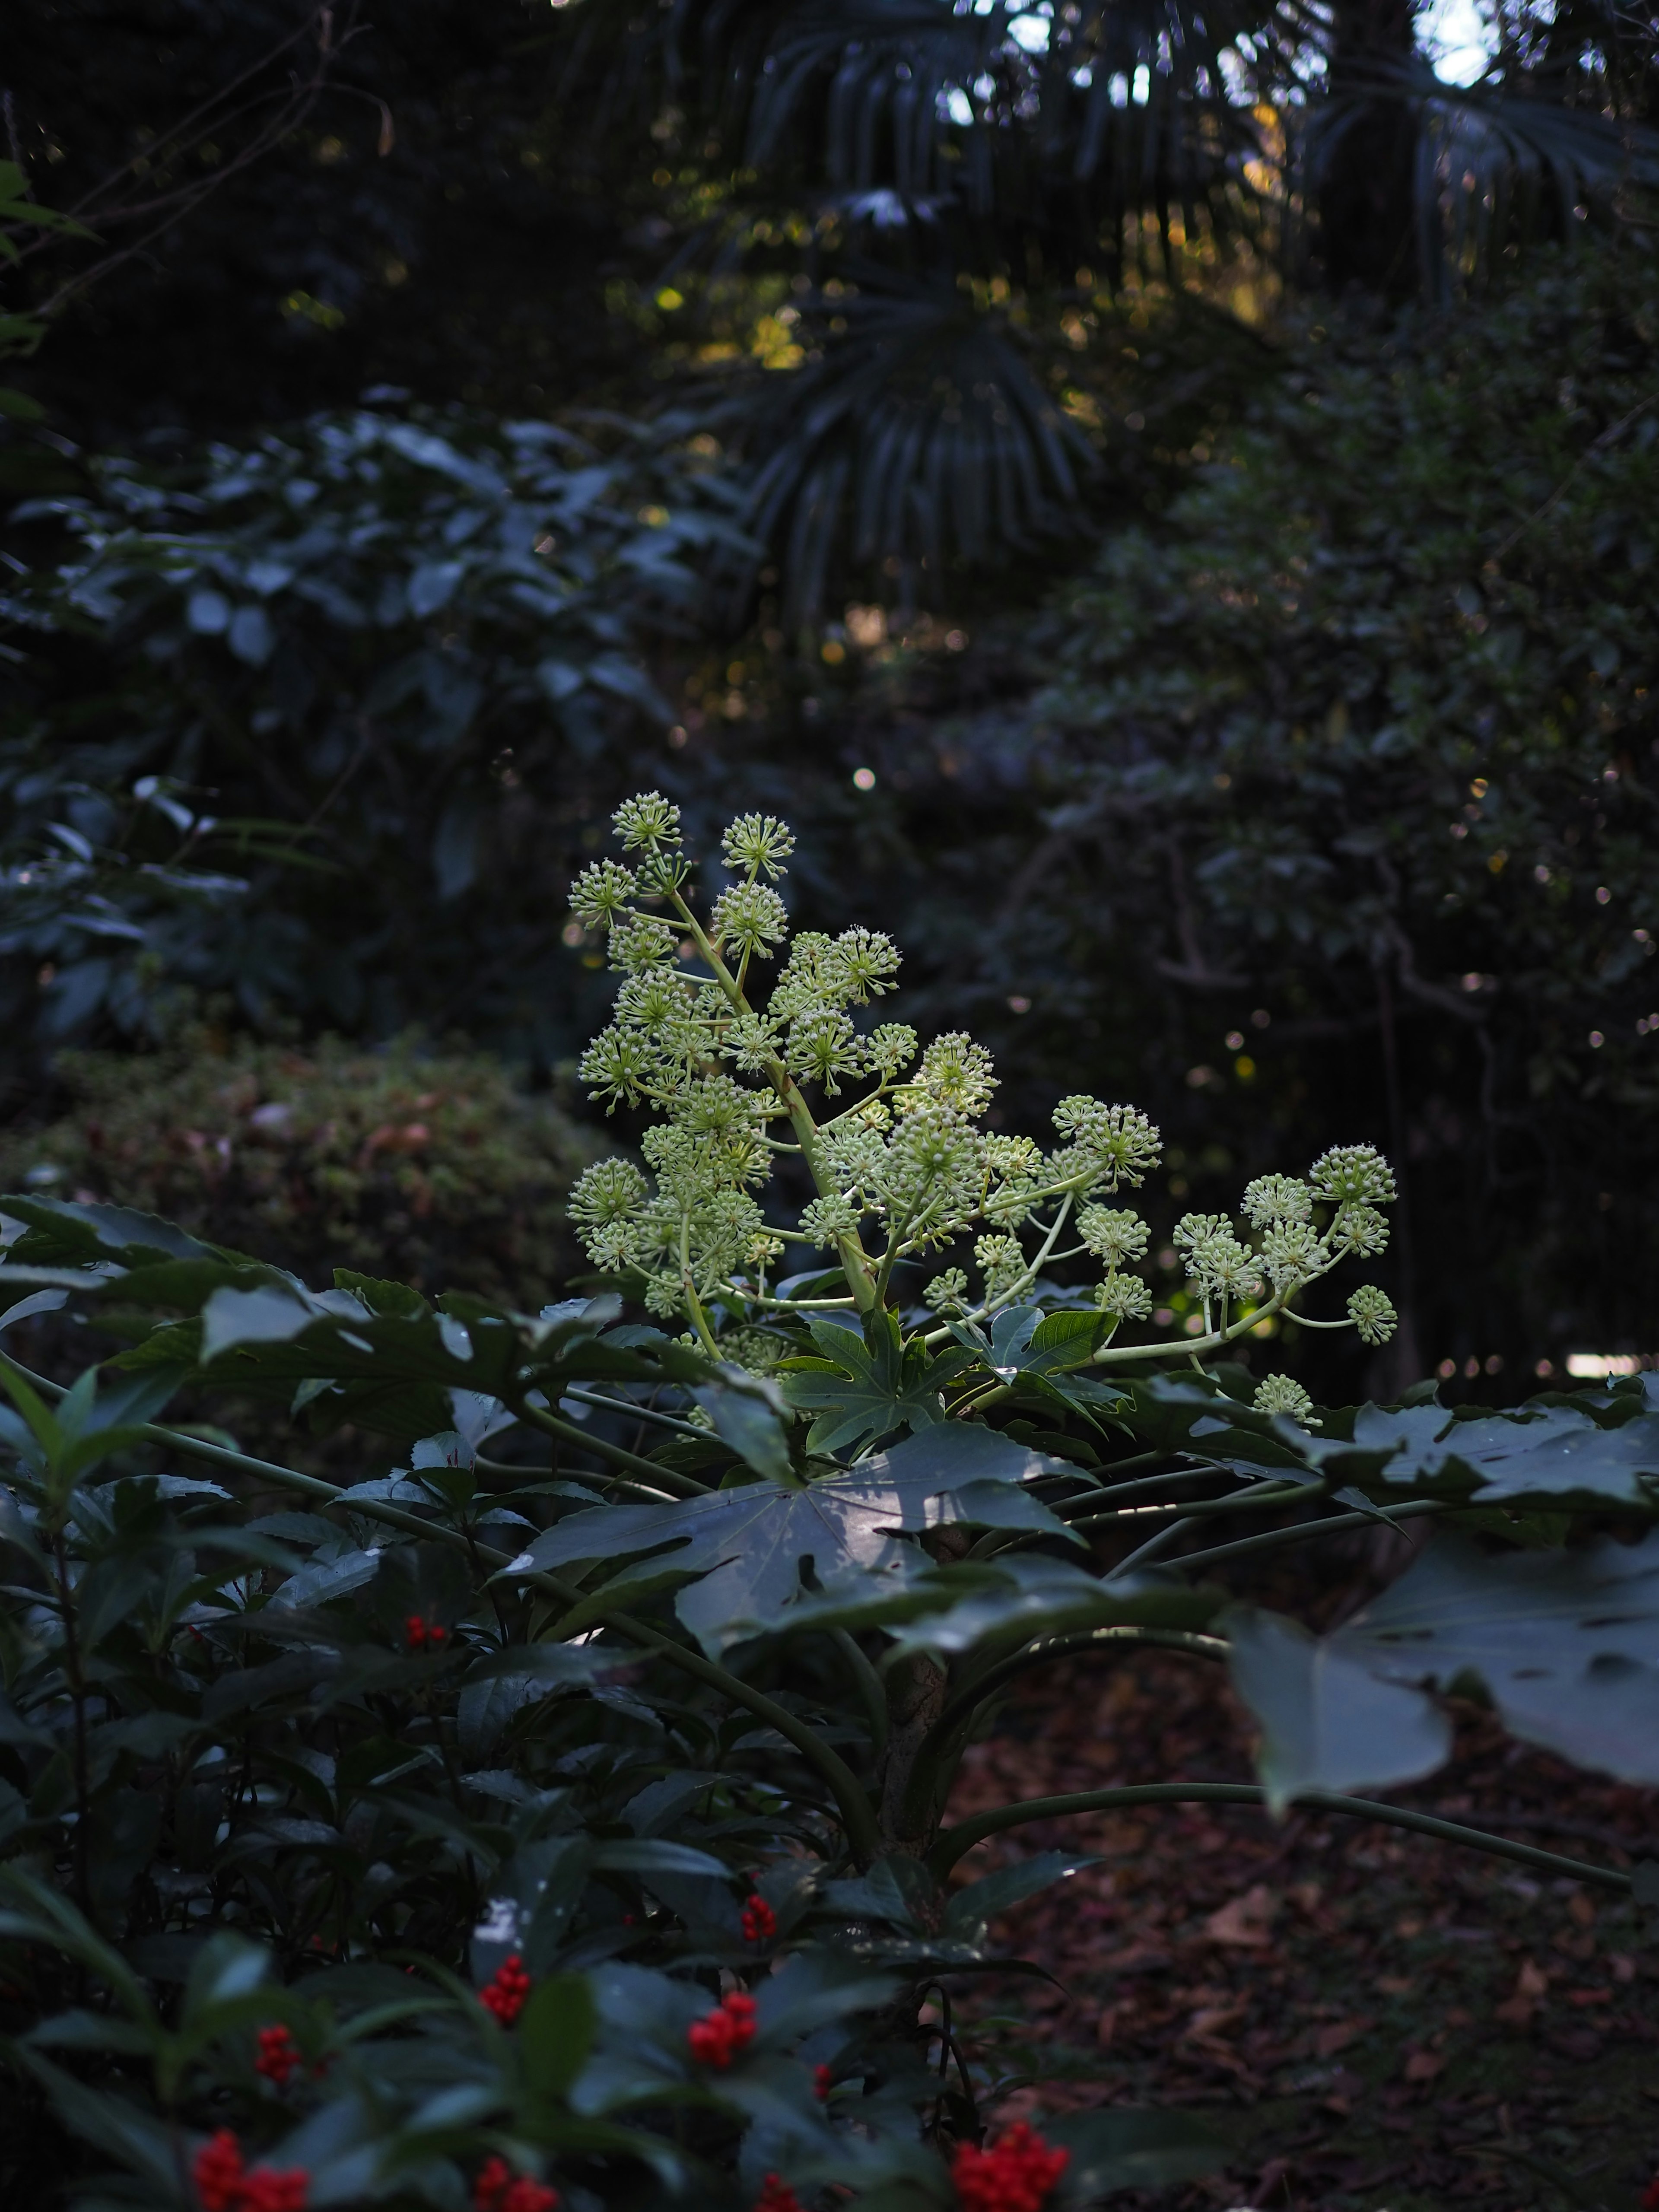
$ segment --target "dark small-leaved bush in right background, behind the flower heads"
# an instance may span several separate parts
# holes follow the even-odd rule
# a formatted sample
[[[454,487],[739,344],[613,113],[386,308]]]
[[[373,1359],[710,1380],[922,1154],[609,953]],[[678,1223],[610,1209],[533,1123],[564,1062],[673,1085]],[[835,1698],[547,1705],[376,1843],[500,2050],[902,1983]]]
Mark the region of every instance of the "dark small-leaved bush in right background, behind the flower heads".
[[[1031,1000],[1015,1113],[1148,1099],[1192,1203],[1338,1121],[1405,1166],[1402,1378],[1650,1349],[1657,334],[1630,259],[1303,332],[1026,701],[872,750],[933,869],[896,929],[958,1018]]]

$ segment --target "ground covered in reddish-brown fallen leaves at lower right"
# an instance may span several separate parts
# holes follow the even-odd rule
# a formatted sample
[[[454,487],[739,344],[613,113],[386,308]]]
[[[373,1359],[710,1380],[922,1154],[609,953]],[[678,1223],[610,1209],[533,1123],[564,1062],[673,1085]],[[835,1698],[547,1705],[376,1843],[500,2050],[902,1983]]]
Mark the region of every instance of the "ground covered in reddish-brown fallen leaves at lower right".
[[[1453,1710],[1453,1763],[1394,1803],[1604,1867],[1659,1858],[1659,1792]],[[1212,1663],[1073,1661],[1031,1677],[971,1747],[951,1814],[1250,1781],[1250,1750]],[[993,2126],[1183,2106],[1234,2146],[1214,2181],[1126,2208],[1637,2212],[1659,2174],[1659,1924],[1617,1891],[1354,1818],[1225,1805],[1071,1816],[964,1867],[1037,1849],[1097,1865],[1002,1922],[1009,1953],[1051,1980],[1004,1975],[962,2004],[1002,2066]]]

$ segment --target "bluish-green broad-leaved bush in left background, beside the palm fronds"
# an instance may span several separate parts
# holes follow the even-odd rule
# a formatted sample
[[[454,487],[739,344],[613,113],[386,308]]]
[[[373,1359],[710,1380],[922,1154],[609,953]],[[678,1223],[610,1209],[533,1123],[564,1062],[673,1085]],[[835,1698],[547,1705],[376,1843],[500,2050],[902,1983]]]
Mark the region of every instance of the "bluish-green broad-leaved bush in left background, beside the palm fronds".
[[[75,551],[4,608],[13,1040],[206,993],[571,1048],[557,849],[734,540],[697,453],[604,436],[363,409],[22,511]]]

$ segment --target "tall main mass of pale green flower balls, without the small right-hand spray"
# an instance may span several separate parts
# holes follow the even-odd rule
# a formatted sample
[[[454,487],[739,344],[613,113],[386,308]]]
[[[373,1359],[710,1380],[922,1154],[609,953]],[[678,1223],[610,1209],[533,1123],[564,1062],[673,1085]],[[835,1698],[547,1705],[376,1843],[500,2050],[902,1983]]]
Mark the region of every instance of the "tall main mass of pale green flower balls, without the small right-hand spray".
[[[577,1181],[571,1219],[597,1265],[646,1272],[653,1312],[697,1321],[714,1298],[768,1303],[765,1267],[785,1241],[834,1254],[867,1305],[896,1261],[978,1230],[984,1296],[1006,1303],[1035,1279],[1022,1230],[1053,1230],[1055,1210],[1135,1188],[1157,1164],[1146,1115],[1082,1095],[1055,1108],[1051,1152],[984,1130],[998,1084],[982,1044],[951,1033],[918,1060],[914,1029],[860,1022],[894,989],[898,949],[876,929],[790,940],[774,887],[794,845],[783,823],[745,814],[726,830],[734,880],[706,922],[684,896],[679,810],[646,792],[615,827],[628,865],[599,860],[571,885],[571,907],[608,936],[622,975],[582,1075],[608,1108],[646,1104],[664,1121],[641,1146],[655,1179],[599,1161]],[[661,905],[668,916],[648,911]],[[759,964],[785,945],[770,991],[757,989]],[[858,1095],[825,1113],[849,1088]],[[803,1155],[816,1186],[781,1234],[757,1197],[779,1152]],[[1084,1203],[1084,1217],[1091,1250],[1144,1254],[1144,1228],[1124,1241],[1102,1206]],[[960,1270],[938,1283],[936,1310],[951,1307],[969,1310]]]

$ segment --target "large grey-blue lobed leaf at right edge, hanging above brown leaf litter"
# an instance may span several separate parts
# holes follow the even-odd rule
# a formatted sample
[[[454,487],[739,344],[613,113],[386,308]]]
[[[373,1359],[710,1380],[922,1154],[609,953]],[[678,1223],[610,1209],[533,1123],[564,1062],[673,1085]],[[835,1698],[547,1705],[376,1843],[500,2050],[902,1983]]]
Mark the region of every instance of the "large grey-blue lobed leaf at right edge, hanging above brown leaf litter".
[[[1332,1637],[1248,1610],[1228,1632],[1279,1803],[1427,1774],[1451,1736],[1422,1686],[1460,1677],[1480,1681],[1524,1741],[1659,1783],[1659,1533],[1502,1557],[1440,1535]]]

